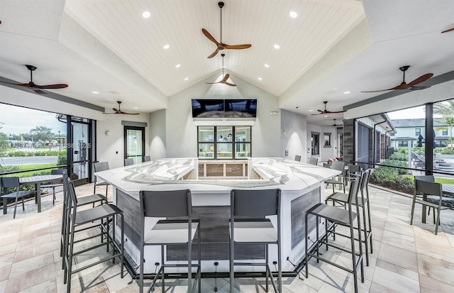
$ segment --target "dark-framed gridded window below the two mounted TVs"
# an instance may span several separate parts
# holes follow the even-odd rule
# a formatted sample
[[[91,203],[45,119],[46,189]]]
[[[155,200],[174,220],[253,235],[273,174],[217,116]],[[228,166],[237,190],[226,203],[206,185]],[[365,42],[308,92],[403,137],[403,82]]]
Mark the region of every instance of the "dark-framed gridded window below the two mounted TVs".
[[[236,160],[251,156],[250,126],[199,126],[198,157]]]

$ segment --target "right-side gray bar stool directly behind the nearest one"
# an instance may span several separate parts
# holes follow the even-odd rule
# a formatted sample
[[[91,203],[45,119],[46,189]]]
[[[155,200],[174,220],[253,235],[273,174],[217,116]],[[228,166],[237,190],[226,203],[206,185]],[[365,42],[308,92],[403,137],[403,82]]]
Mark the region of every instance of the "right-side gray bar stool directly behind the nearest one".
[[[371,170],[368,169],[360,176],[361,197],[358,197],[358,201],[355,198],[353,198],[353,200],[352,200],[353,205],[357,204],[357,202],[358,202],[358,205],[360,206],[361,211],[362,211],[363,229],[361,229],[361,231],[362,231],[362,233],[364,233],[364,239],[362,239],[362,242],[365,243],[366,265],[369,265],[369,247],[370,247],[370,253],[373,253],[373,251],[374,251],[372,248],[372,220],[370,218],[370,199],[369,199],[369,187],[368,187],[370,172],[371,172]],[[335,193],[329,195],[328,197],[326,197],[325,203],[328,204],[328,201],[333,201],[333,206],[335,206],[336,204],[341,204],[345,208],[348,203],[348,194],[345,194],[342,192],[335,192]],[[366,216],[366,211],[367,211],[367,216]],[[334,234],[333,236],[335,236],[335,235],[336,234]]]

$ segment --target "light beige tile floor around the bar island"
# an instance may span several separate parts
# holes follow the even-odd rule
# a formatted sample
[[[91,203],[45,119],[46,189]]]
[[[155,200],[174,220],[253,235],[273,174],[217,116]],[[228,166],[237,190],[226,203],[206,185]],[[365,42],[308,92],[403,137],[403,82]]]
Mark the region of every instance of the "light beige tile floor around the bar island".
[[[109,189],[110,190],[110,189]],[[328,193],[331,189],[326,189]],[[92,185],[77,187],[77,194],[89,194]],[[438,236],[433,234],[431,216],[421,223],[417,206],[414,226],[409,225],[411,199],[374,187],[372,198],[374,253],[365,266],[365,282],[360,292],[454,292],[454,212],[442,211]],[[43,197],[43,212],[33,201],[25,213],[18,209],[16,219],[0,216],[0,292],[66,292],[60,258],[60,222],[62,193],[52,206],[51,197]],[[342,243],[341,238],[337,238]],[[337,263],[351,263],[350,255],[338,250],[323,256]],[[79,259],[96,258],[97,252]],[[136,282],[126,275],[121,279],[118,265],[104,262],[72,277],[71,292],[138,292]],[[185,280],[168,280],[167,292],[186,292]],[[214,279],[202,281],[202,292],[214,292]],[[309,278],[304,271],[298,277],[283,280],[284,292],[353,292],[353,275],[328,265],[309,262]],[[166,283],[167,284],[167,283]],[[217,280],[218,292],[228,292],[228,279]],[[236,280],[238,292],[265,292],[264,280]],[[155,292],[160,292],[160,287]],[[272,289],[270,289],[272,292]]]

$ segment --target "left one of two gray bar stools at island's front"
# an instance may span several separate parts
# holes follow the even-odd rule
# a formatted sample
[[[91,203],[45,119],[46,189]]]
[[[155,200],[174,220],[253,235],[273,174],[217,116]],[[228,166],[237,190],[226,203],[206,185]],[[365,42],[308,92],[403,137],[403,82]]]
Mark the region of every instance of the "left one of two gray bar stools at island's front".
[[[161,277],[162,292],[165,292],[165,267],[187,267],[188,292],[194,292],[196,284],[201,292],[201,248],[199,221],[192,219],[191,191],[141,191],[140,214],[142,216],[140,233],[140,277],[139,289],[143,292],[144,248],[148,245],[160,245],[161,267],[155,274],[148,292],[153,291],[157,278]],[[176,218],[178,219],[168,219]],[[145,218],[161,218],[153,227],[145,229]],[[162,218],[167,218],[162,220]],[[192,242],[197,233],[197,263],[192,263]],[[165,246],[170,244],[187,244],[187,264],[169,264],[165,262]],[[192,284],[192,267],[196,267],[194,285]],[[194,286],[194,287],[193,287]]]

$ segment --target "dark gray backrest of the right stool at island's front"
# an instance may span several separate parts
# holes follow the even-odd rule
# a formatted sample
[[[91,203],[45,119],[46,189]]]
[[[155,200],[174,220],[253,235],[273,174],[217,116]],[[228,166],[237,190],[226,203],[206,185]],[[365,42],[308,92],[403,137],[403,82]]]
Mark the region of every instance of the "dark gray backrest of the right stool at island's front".
[[[279,215],[280,189],[231,191],[231,215],[265,217]]]

